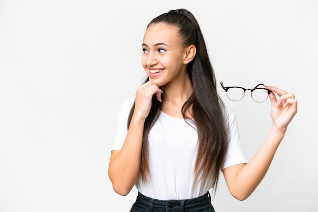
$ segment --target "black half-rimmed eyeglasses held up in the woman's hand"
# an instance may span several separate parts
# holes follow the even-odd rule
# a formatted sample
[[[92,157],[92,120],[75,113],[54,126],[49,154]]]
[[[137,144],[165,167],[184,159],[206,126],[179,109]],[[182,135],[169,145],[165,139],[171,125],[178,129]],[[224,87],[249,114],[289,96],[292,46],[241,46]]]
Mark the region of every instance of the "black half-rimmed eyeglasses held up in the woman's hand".
[[[256,102],[263,102],[268,98],[268,95],[271,90],[267,89],[266,86],[262,83],[255,86],[255,88],[242,88],[242,87],[224,87],[223,83],[221,82],[222,88],[227,92],[227,96],[232,101],[239,101],[241,100],[246,90],[250,90],[250,95],[252,99]]]

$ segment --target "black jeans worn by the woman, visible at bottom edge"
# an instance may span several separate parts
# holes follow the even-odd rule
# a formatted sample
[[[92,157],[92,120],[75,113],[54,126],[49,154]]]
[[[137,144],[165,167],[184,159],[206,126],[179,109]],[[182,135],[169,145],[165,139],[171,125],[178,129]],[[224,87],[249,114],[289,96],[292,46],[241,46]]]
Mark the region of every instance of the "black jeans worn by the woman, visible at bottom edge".
[[[193,199],[158,200],[146,197],[138,192],[136,202],[130,212],[215,212],[211,204],[210,193]]]

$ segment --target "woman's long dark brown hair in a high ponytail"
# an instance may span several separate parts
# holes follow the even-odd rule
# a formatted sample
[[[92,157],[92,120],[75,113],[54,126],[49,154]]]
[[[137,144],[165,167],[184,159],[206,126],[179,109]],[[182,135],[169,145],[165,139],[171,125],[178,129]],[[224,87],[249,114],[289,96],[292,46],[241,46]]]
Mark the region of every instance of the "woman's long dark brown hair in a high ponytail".
[[[185,48],[195,45],[197,49],[196,56],[187,66],[187,72],[193,84],[193,92],[182,106],[182,115],[185,120],[193,118],[198,131],[198,156],[194,170],[197,179],[196,183],[200,180],[207,180],[209,174],[212,173],[212,185],[216,189],[220,167],[224,162],[227,150],[229,133],[225,119],[224,104],[216,91],[215,75],[203,34],[196,18],[185,9],[171,10],[168,13],[164,13],[154,18],[148,26],[155,23],[165,23],[177,27],[181,46]],[[146,78],[144,83],[147,81],[149,81],[149,78]],[[164,93],[162,99],[164,101]],[[152,106],[144,125],[141,154],[141,175],[144,182],[147,182],[150,175],[148,135],[160,114],[161,107],[162,103],[154,95]],[[189,114],[192,114],[193,117],[187,117],[186,115],[190,107],[192,107],[192,113]],[[134,108],[135,104],[128,119],[128,128]]]

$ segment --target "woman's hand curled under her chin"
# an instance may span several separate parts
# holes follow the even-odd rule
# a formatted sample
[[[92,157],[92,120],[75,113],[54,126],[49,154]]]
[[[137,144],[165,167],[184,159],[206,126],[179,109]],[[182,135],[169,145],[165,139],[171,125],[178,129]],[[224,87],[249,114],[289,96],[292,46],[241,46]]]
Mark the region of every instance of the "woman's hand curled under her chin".
[[[156,94],[158,101],[162,101],[162,90],[153,82],[148,81],[137,89],[135,103],[135,118],[146,119],[150,108],[153,94]]]

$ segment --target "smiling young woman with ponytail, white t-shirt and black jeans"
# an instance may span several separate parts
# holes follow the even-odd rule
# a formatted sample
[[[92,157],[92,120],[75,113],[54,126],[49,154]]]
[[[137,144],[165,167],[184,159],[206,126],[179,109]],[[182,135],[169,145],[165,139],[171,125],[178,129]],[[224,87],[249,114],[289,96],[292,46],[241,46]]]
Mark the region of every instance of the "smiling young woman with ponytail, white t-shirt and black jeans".
[[[216,92],[193,14],[179,9],[154,18],[142,50],[148,77],[119,110],[109,163],[115,192],[127,195],[136,186],[131,211],[214,211],[208,191],[216,188],[221,170],[231,194],[246,199],[262,181],[297,112],[294,94],[267,86],[272,128],[247,162],[235,114]]]

